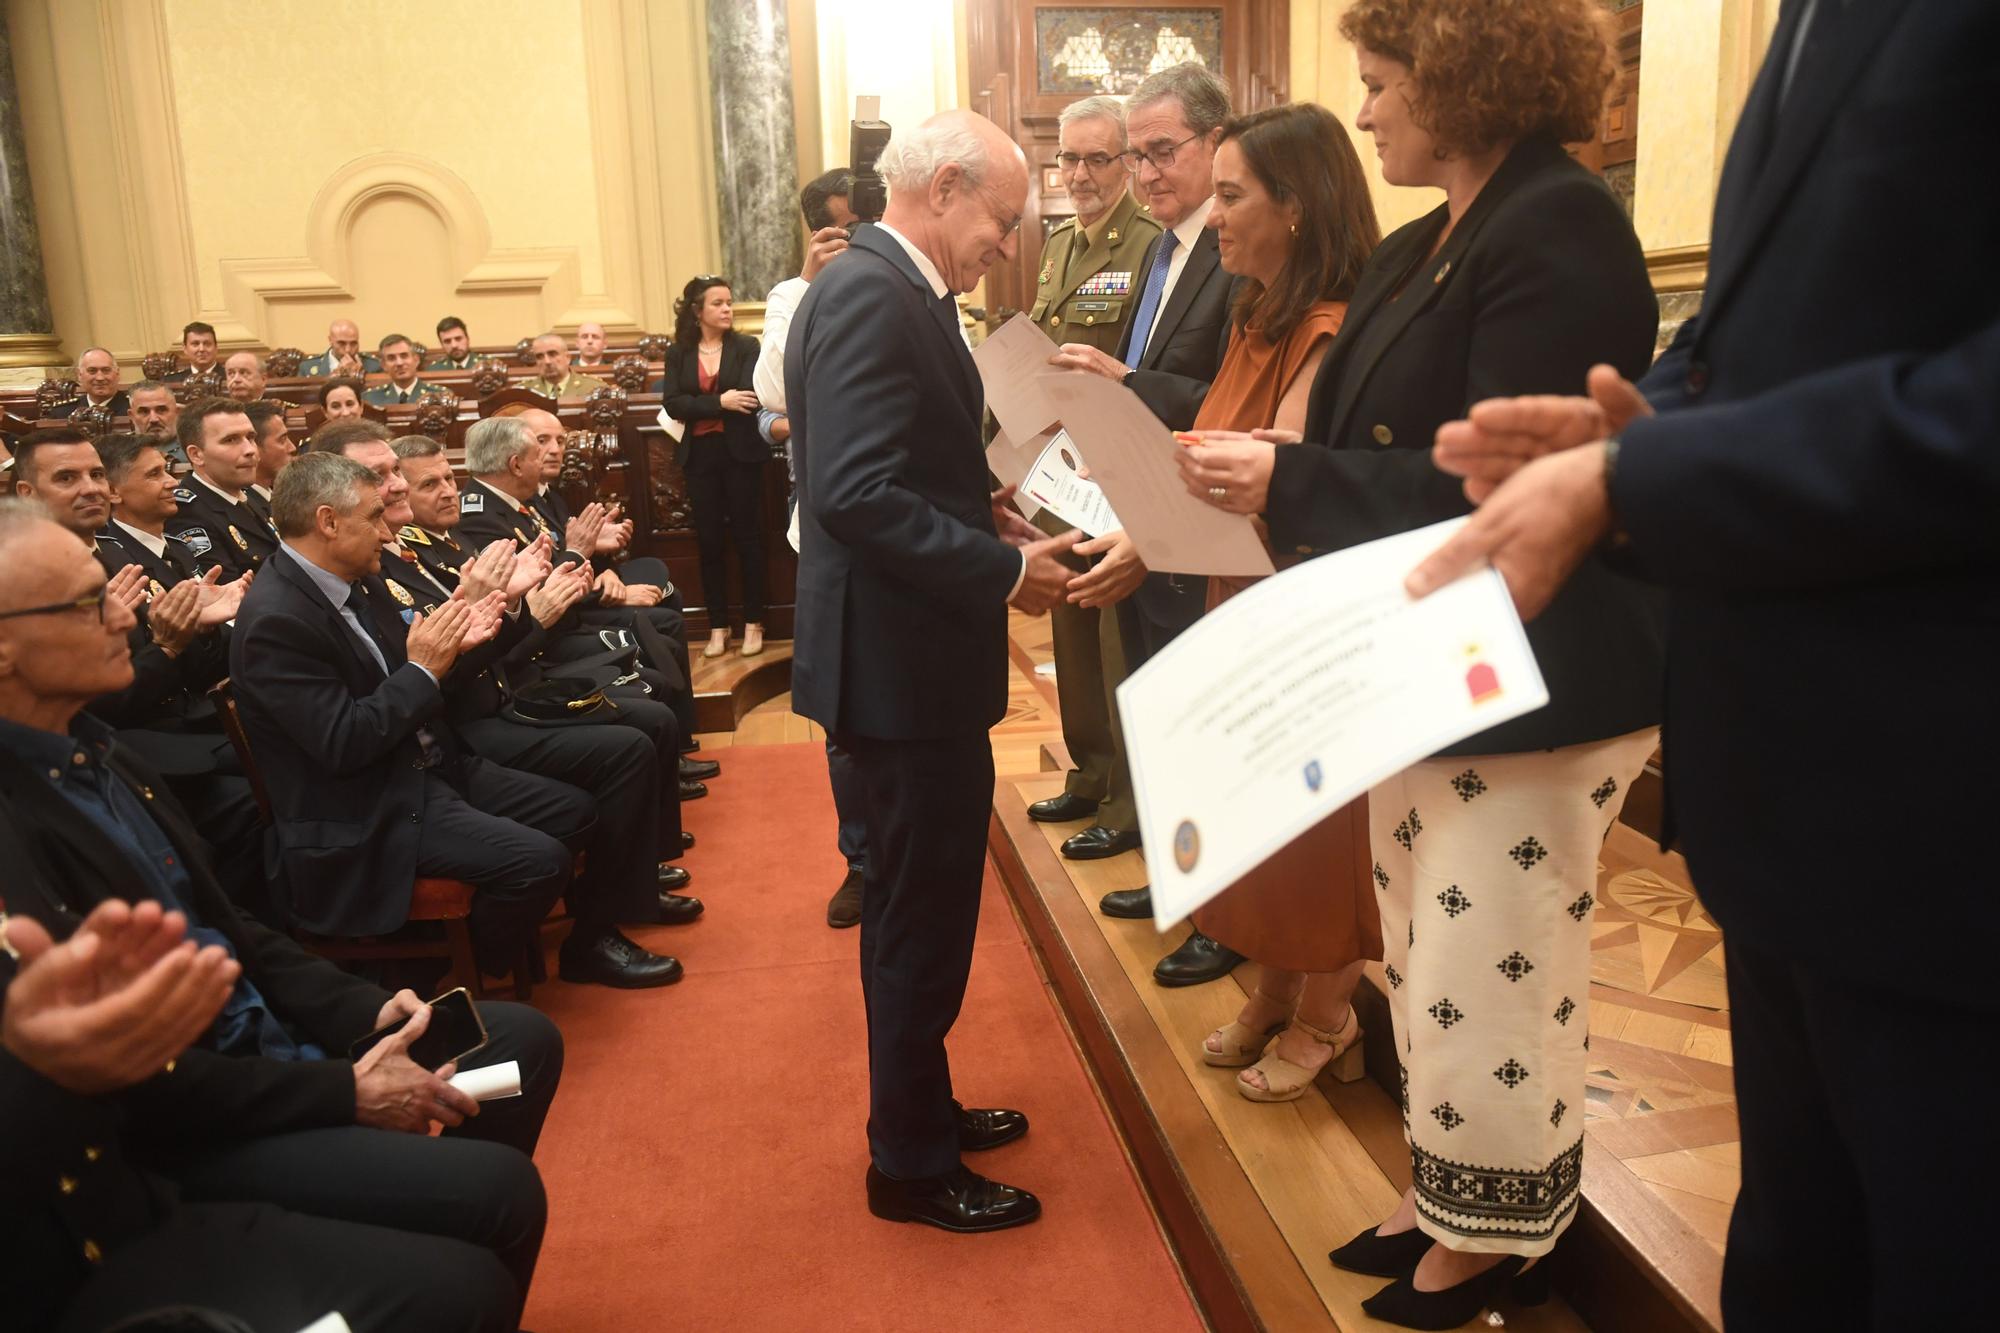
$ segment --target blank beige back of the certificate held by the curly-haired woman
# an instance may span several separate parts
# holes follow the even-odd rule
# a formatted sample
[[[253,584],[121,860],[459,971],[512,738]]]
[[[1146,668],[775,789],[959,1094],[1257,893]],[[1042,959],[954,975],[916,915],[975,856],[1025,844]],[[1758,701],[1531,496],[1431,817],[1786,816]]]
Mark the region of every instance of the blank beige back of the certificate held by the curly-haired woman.
[[[1248,514],[1226,514],[1188,494],[1174,454],[1180,442],[1138,394],[1102,374],[1036,376],[1064,430],[1084,450],[1090,478],[1118,510],[1138,558],[1156,574],[1268,574],[1270,554]],[[1082,526],[1082,524],[1078,524]]]

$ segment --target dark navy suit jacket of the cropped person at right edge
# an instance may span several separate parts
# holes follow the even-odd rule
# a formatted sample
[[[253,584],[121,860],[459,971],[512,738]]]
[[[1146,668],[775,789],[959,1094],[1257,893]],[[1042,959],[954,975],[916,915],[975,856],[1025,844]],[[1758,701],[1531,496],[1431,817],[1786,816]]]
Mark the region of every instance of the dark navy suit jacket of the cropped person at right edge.
[[[1780,104],[1798,10],[1612,484],[1672,590],[1668,811],[1732,943],[1990,1011],[2000,202],[1954,182],[2000,6],[1820,0]]]

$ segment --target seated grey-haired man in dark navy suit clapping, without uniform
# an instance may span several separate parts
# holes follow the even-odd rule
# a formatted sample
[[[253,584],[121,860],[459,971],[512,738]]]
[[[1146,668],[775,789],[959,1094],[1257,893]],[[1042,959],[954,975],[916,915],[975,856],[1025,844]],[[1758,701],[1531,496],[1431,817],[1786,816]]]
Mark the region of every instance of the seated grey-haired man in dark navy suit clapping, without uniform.
[[[472,945],[498,977],[570,883],[596,813],[564,783],[466,755],[442,683],[500,628],[500,592],[404,628],[376,572],[376,474],[312,452],[278,474],[284,546],[244,596],[230,675],[272,805],[266,861],[290,919],[322,935],[408,921],[420,875],[474,885]],[[566,847],[568,843],[568,847]]]

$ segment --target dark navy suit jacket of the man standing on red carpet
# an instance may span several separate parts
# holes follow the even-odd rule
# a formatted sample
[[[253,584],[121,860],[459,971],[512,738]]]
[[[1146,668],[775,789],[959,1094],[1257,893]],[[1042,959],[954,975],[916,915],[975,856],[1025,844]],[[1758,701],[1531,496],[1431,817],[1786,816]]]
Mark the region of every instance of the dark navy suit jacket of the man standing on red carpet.
[[[812,280],[784,354],[798,464],[792,707],[836,735],[928,741],[1006,715],[1006,598],[986,394],[938,298],[872,226]]]

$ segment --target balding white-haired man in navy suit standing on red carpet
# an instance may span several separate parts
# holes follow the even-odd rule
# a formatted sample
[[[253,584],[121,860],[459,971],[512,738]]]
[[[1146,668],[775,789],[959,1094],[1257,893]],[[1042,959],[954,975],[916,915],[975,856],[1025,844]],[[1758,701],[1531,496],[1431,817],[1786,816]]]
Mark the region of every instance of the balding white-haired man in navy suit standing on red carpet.
[[[864,791],[868,1207],[994,1231],[1042,1205],[968,1171],[960,1153],[1028,1123],[954,1101],[944,1037],[978,927],[1006,606],[1048,610],[1076,534],[1034,540],[1006,514],[1010,540],[998,536],[984,394],[952,300],[1014,254],[1020,148],[982,116],[946,112],[890,142],[882,174],[882,222],[856,230],[814,280],[786,346],[800,514],[792,699],[854,757]]]

